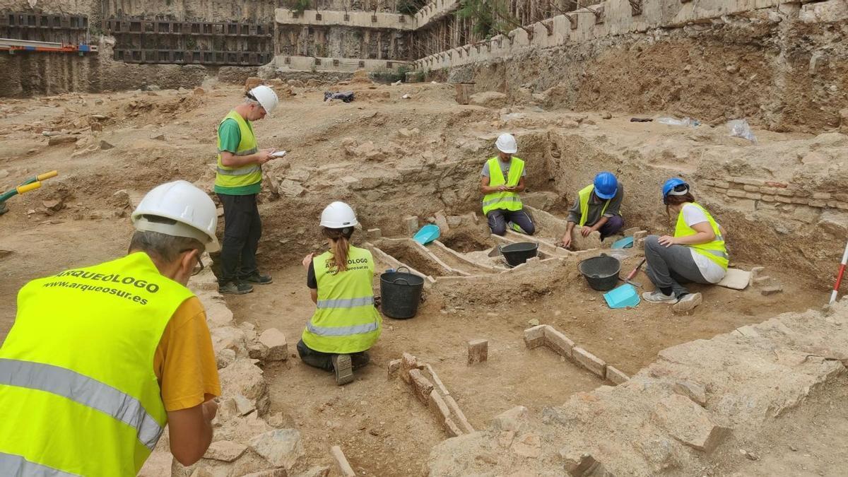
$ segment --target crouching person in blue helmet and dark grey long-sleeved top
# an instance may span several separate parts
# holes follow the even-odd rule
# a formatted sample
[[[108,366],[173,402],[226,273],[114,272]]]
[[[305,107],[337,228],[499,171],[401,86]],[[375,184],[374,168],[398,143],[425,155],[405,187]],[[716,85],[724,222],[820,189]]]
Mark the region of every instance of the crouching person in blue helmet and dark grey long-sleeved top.
[[[594,177],[594,182],[580,189],[577,201],[568,212],[566,234],[562,236],[561,244],[566,249],[572,245],[572,231],[577,224],[577,233],[589,237],[589,233],[600,232],[600,239],[615,235],[624,227],[621,216],[624,186],[612,172],[600,172]]]

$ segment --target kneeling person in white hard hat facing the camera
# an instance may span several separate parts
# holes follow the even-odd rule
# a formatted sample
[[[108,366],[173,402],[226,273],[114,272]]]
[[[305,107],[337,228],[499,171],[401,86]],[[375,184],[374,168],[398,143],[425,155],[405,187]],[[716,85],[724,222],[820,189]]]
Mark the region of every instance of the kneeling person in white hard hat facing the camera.
[[[518,151],[516,138],[501,134],[495,146],[498,156],[487,160],[480,174],[483,177],[480,181],[483,215],[488,218],[488,227],[496,235],[503,235],[507,228],[533,235],[536,227],[518,195],[524,190],[527,170],[524,161],[512,155]]]

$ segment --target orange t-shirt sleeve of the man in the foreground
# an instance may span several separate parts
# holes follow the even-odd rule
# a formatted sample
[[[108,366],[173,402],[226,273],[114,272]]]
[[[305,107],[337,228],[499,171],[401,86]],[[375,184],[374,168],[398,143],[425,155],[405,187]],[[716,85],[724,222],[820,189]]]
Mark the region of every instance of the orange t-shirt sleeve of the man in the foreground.
[[[174,311],[153,356],[166,411],[198,406],[220,396],[218,366],[206,311],[192,296]]]

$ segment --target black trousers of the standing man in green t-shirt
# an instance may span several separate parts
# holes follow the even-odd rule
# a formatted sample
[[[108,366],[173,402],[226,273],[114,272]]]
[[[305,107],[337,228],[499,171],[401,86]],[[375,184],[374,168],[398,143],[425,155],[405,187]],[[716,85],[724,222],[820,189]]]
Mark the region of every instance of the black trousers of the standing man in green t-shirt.
[[[220,283],[235,282],[258,272],[256,249],[262,237],[262,219],[256,194],[218,194],[224,206],[224,242],[220,247]]]

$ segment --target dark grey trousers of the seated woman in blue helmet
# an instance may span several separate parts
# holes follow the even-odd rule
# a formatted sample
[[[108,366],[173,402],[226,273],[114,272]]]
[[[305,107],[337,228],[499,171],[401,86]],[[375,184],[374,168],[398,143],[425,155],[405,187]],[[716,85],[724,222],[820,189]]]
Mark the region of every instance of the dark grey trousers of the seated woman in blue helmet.
[[[645,273],[656,288],[670,288],[674,295],[680,298],[681,295],[689,293],[681,283],[711,284],[701,275],[689,247],[666,247],[660,244],[659,239],[657,235],[649,235],[644,239],[644,258],[648,264]]]

